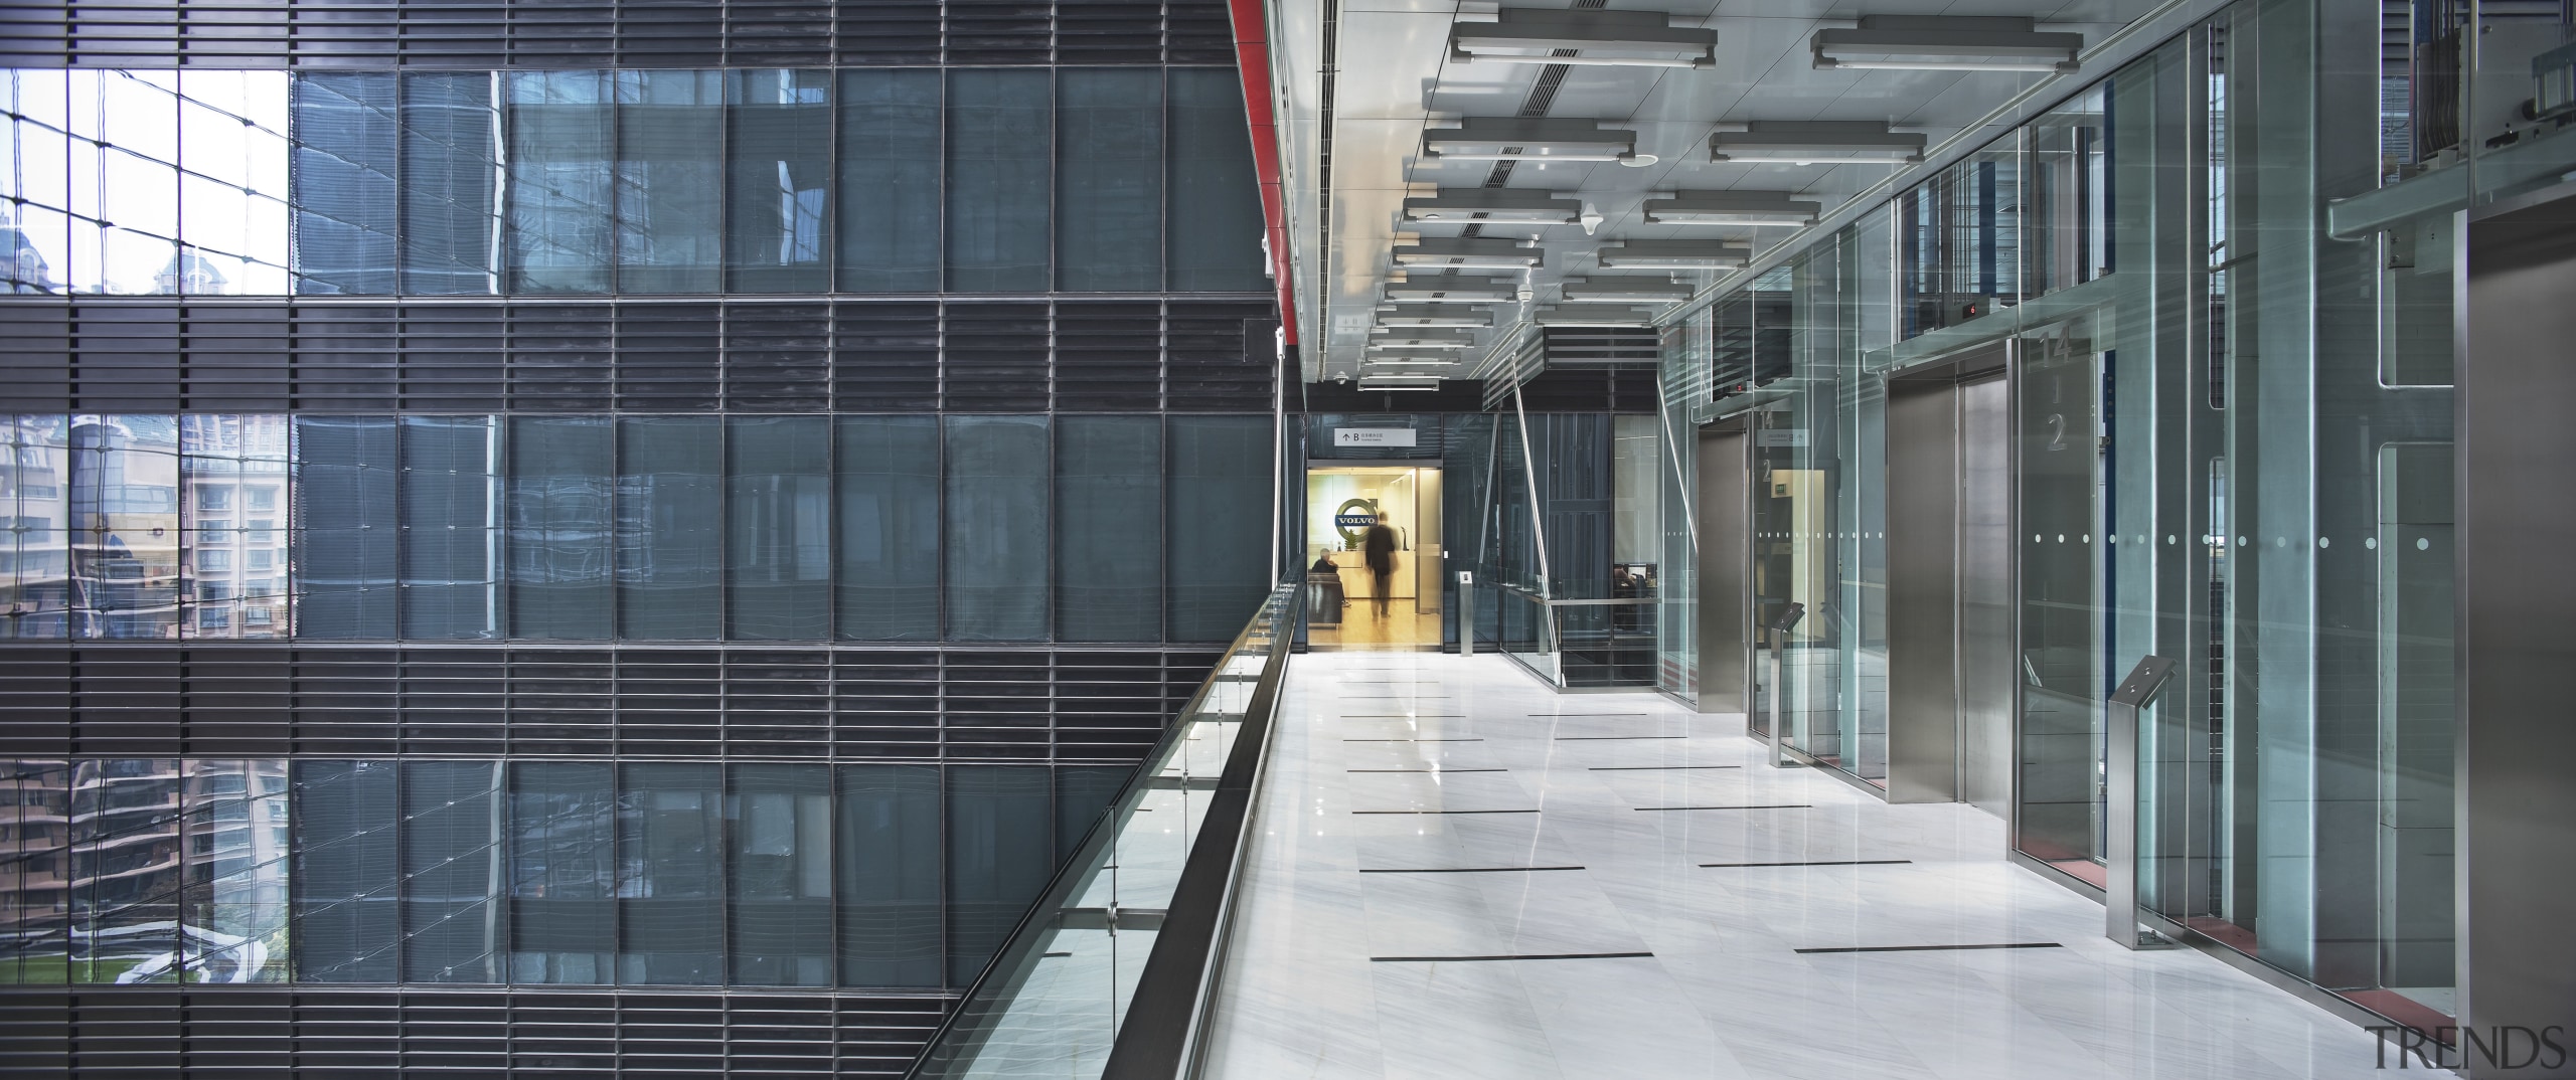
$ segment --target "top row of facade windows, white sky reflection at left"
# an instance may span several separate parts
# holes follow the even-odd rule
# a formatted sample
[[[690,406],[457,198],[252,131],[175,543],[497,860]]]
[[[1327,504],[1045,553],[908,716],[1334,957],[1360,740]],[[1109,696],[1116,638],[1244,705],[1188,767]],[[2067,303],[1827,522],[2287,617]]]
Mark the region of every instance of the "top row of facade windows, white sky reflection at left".
[[[15,293],[1267,291],[1231,67],[0,69]]]

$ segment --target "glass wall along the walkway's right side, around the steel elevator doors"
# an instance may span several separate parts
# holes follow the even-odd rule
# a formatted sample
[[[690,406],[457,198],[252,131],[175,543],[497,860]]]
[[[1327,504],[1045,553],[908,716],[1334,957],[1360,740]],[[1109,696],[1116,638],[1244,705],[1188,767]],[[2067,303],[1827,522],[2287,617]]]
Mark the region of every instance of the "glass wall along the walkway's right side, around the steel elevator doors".
[[[2105,882],[2105,699],[2174,658],[2138,735],[2141,908],[2432,1031],[2455,1016],[2452,270],[2434,219],[2329,231],[2336,201],[2429,175],[2383,170],[2375,72],[2318,59],[2344,21],[2236,3],[1674,311],[1664,509],[1685,525],[1700,491],[1698,427],[1747,417],[1749,620],[1806,604],[1788,746],[1883,787],[1909,723],[1888,381],[1999,347],[2012,849]],[[1703,540],[1667,532],[1667,563]],[[1692,617],[1662,625],[1659,687],[1692,697]]]

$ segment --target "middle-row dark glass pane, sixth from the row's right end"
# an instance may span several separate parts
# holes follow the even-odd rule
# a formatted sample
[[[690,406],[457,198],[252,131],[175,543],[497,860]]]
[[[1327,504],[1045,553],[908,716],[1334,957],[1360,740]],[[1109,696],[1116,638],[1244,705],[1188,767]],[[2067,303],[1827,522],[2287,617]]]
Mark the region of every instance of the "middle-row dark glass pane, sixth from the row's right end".
[[[621,417],[618,638],[724,635],[724,422]]]

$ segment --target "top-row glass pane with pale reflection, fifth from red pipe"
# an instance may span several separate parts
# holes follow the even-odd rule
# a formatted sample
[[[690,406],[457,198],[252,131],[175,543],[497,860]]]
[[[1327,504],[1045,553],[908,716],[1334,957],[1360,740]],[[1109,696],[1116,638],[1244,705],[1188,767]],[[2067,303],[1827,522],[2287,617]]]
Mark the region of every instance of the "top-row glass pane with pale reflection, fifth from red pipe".
[[[726,72],[724,270],[734,293],[832,288],[832,72]]]

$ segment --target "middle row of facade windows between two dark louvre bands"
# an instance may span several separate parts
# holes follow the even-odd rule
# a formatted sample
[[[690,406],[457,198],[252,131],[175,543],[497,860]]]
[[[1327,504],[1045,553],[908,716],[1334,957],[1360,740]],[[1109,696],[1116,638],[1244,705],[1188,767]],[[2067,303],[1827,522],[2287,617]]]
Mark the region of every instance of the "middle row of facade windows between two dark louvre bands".
[[[1221,640],[1270,573],[1270,417],[5,432],[15,640]]]

